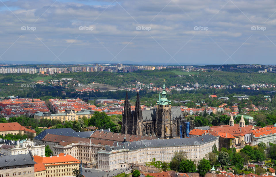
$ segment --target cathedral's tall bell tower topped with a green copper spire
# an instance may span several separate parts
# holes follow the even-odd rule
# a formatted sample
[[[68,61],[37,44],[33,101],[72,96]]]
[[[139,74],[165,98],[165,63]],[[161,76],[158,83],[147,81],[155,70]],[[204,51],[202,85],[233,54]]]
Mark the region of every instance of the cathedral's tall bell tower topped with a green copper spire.
[[[159,138],[169,138],[171,135],[171,101],[167,99],[165,79],[163,81],[163,90],[159,93],[159,98],[156,102],[156,135]]]

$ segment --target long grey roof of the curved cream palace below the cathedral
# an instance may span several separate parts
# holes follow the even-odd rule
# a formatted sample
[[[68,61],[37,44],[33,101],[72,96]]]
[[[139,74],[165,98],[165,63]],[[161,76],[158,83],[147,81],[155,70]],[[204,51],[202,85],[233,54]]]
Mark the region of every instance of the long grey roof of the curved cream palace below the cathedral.
[[[203,138],[203,141],[202,141]],[[173,146],[190,146],[190,145],[200,145],[208,142],[212,142],[218,139],[213,135],[207,134],[195,138],[179,138],[179,139],[154,139],[154,140],[143,140],[127,142],[123,146],[110,147],[105,146],[106,151],[119,150],[119,149],[129,149],[129,151],[137,150],[145,147],[173,147]]]

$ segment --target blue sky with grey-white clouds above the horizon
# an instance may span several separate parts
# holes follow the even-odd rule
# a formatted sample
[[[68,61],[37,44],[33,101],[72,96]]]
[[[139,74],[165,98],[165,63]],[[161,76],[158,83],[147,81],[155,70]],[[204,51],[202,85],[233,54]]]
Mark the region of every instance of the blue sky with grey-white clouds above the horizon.
[[[0,0],[0,63],[276,64],[275,0]]]

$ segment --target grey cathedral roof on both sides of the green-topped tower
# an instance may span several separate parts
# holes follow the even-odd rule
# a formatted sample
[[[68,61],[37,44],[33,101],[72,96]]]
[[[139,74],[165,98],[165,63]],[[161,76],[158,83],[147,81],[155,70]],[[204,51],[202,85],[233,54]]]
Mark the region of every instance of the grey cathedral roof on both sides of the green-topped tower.
[[[156,109],[142,110],[143,120],[156,120]],[[183,113],[181,108],[172,108],[172,120],[181,117],[183,118]]]

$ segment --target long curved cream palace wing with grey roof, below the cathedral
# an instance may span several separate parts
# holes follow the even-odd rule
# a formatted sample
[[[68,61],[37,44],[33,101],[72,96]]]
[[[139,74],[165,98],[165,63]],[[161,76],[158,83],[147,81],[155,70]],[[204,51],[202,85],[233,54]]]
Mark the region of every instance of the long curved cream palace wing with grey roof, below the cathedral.
[[[185,152],[187,159],[199,161],[212,152],[214,144],[218,147],[218,138],[207,134],[195,138],[144,140],[126,142],[118,147],[105,146],[98,151],[98,168],[108,171],[123,169],[129,163],[145,164],[154,158],[170,162],[175,152]]]

